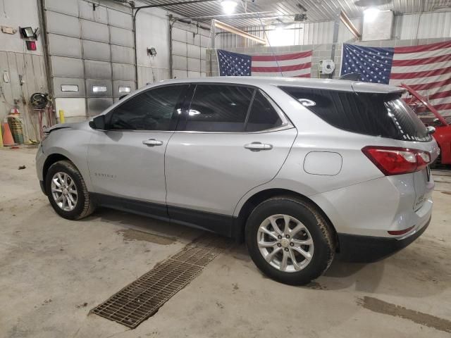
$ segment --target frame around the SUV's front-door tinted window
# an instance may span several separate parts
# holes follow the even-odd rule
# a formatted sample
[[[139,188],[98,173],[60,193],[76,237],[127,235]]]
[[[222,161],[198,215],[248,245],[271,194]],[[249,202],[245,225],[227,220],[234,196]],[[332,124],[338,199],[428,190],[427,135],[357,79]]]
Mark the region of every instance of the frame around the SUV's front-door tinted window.
[[[114,112],[121,107],[123,104],[127,103],[128,101],[135,99],[137,96],[144,94],[145,92],[149,92],[152,90],[156,90],[156,89],[161,89],[164,87],[179,87],[179,86],[185,86],[186,88],[184,89],[184,91],[180,94],[180,96],[178,97],[177,102],[175,103],[175,107],[173,109],[173,115],[171,117],[171,119],[176,116],[177,119],[176,120],[176,124],[175,127],[171,130],[135,130],[135,129],[110,129],[110,123],[111,123],[111,118],[113,118],[113,114]],[[182,109],[183,111],[183,106],[185,104],[185,101],[188,98],[188,94],[190,93],[190,89],[192,87],[192,84],[189,82],[180,82],[180,83],[168,83],[168,84],[161,84],[159,86],[155,86],[155,87],[151,87],[151,88],[147,88],[147,89],[143,89],[140,90],[139,92],[136,92],[135,94],[133,94],[132,96],[128,97],[127,99],[125,99],[124,101],[118,101],[120,104],[118,104],[117,106],[111,108],[110,111],[105,113],[105,118],[106,118],[106,128],[105,130],[108,132],[175,132],[175,130],[177,130],[177,127],[180,123],[180,118],[183,114],[176,114],[177,111],[177,107],[180,107],[180,109]]]

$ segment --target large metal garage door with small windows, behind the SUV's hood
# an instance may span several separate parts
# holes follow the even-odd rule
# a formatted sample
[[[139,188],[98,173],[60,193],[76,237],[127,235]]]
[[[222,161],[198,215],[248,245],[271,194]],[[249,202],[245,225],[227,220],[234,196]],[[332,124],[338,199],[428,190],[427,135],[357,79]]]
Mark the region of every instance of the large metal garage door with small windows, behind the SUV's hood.
[[[44,10],[57,109],[96,115],[136,88],[131,8],[46,0]]]

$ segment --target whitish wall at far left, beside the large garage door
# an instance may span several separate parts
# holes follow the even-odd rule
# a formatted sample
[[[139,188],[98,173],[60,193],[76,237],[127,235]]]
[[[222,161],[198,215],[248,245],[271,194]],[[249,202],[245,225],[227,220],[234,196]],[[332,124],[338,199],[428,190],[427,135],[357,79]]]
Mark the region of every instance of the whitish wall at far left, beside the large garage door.
[[[36,0],[2,0],[1,5],[1,25],[16,30],[39,27]],[[13,35],[0,32],[0,121],[3,122],[11,108],[17,107],[25,128],[25,141],[39,139],[37,113],[27,103],[33,93],[48,92],[43,55],[42,35],[37,39],[37,51],[27,51],[19,32]],[[9,80],[5,81],[4,75]]]

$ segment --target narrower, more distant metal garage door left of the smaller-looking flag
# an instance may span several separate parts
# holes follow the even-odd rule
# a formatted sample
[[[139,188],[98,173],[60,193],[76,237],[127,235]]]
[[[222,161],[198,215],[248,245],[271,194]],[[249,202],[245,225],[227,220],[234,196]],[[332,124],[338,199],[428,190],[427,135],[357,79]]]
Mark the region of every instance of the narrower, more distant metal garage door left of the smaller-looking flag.
[[[210,31],[195,25],[177,22],[172,28],[173,77],[204,77],[205,51]]]

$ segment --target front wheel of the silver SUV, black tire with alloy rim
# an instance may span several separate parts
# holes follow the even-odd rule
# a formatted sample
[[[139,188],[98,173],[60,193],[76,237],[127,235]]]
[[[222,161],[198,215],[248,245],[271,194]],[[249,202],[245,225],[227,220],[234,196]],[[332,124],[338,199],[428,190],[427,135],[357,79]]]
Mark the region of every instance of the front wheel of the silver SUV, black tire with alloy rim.
[[[62,181],[67,182],[67,189],[61,187]],[[80,220],[94,212],[95,206],[87,191],[85,180],[70,161],[58,161],[50,166],[45,177],[45,188],[51,206],[63,218]],[[61,198],[63,192],[66,197]]]

